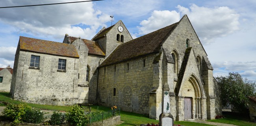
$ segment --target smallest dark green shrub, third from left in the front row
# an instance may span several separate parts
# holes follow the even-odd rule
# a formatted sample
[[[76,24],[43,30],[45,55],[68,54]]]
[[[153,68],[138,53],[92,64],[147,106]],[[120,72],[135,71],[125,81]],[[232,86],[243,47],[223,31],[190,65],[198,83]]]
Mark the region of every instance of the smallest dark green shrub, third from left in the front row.
[[[65,121],[65,115],[61,112],[53,112],[51,119],[49,120],[50,125],[60,125]]]

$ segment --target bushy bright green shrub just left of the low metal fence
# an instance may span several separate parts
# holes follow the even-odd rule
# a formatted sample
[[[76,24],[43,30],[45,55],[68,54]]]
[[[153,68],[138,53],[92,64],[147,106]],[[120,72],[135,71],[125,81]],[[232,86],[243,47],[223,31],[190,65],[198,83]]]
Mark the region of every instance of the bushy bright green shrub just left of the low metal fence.
[[[89,117],[84,114],[83,108],[74,105],[66,113],[66,119],[71,125],[86,126],[89,123]]]

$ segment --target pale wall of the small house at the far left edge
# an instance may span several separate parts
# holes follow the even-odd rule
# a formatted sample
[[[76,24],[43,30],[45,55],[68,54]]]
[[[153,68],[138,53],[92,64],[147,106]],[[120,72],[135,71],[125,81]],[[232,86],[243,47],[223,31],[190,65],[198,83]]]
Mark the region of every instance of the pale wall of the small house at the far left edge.
[[[11,77],[12,74],[7,69],[0,71],[0,76],[3,77],[2,82],[0,82],[0,91],[9,92],[11,88]]]

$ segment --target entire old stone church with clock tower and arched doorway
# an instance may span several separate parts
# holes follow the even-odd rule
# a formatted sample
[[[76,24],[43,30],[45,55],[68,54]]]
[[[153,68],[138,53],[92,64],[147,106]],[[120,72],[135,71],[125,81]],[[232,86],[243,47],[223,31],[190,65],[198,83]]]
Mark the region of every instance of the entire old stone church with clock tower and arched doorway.
[[[91,40],[21,36],[10,93],[28,103],[117,105],[158,119],[164,84],[174,120],[221,115],[213,67],[187,15],[136,39],[121,20]]]

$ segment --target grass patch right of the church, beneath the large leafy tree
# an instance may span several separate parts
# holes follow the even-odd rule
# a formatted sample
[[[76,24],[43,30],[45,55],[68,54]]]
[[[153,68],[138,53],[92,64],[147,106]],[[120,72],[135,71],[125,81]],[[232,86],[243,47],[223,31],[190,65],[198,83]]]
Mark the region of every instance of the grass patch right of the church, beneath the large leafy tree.
[[[208,120],[209,122],[220,122],[226,124],[233,124],[238,126],[256,126],[256,123],[250,122],[248,115],[239,114],[239,113],[224,113],[223,115],[225,118],[223,119],[215,119],[215,120]]]

